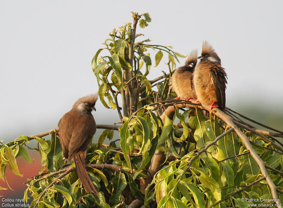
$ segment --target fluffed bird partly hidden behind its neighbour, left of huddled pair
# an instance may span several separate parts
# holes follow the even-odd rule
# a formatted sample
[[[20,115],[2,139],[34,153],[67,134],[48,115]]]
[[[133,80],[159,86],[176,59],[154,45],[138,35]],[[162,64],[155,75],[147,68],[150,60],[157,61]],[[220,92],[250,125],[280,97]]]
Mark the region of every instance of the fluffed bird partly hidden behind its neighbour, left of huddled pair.
[[[193,90],[193,71],[197,64],[197,50],[193,50],[187,58],[185,65],[178,67],[170,79],[172,90],[176,92],[178,100],[181,97],[186,97],[186,101],[195,98],[196,95]]]

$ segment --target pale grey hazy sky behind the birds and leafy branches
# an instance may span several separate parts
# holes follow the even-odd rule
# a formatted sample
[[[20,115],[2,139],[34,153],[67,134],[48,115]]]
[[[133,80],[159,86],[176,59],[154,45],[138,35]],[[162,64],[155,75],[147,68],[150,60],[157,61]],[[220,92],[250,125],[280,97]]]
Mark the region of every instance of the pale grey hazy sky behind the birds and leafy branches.
[[[108,32],[132,21],[130,11],[152,18],[138,40],[181,54],[209,41],[228,74],[226,106],[270,101],[282,109],[282,7],[279,0],[0,1],[0,140],[56,128],[77,98],[96,92],[92,57]],[[151,78],[168,71],[166,58]],[[98,102],[94,117],[109,123],[116,114]]]

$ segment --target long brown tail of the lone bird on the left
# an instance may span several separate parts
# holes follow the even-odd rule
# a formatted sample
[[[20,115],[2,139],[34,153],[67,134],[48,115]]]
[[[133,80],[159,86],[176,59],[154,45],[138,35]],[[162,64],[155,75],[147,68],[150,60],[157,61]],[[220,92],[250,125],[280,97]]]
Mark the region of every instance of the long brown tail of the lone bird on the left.
[[[95,195],[98,195],[98,192],[92,183],[91,178],[89,177],[89,174],[86,170],[86,153],[83,151],[79,151],[74,156],[74,163],[75,167],[78,173],[78,176],[80,178],[81,184],[86,189],[87,193],[94,193]]]

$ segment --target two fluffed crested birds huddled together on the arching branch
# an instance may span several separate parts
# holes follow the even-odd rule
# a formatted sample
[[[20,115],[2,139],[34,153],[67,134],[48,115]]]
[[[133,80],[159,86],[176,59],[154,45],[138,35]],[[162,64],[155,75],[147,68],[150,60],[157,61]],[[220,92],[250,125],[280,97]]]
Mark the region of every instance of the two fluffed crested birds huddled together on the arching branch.
[[[197,59],[200,62],[197,64]],[[207,41],[203,42],[202,54],[197,57],[197,50],[190,53],[184,66],[177,68],[170,79],[175,99],[197,98],[202,104],[212,108],[225,108],[225,89],[227,75],[221,67],[221,60]],[[214,106],[215,104],[215,106]]]

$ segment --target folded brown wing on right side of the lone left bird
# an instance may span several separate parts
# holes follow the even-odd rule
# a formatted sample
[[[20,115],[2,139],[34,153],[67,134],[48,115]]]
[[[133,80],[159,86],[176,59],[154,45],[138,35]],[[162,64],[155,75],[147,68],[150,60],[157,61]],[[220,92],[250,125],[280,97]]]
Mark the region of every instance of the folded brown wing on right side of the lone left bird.
[[[92,136],[96,132],[95,120],[92,116],[80,116],[75,120],[72,136],[69,141],[69,158],[72,158],[78,151],[85,151]]]

